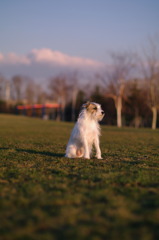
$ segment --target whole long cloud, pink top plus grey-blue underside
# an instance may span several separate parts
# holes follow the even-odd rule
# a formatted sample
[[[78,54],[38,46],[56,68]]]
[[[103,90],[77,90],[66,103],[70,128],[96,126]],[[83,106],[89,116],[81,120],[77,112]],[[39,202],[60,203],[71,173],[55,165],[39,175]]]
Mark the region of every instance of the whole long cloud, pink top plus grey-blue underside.
[[[8,78],[20,74],[40,82],[61,73],[77,71],[81,81],[85,81],[104,67],[103,63],[92,59],[72,57],[47,48],[33,49],[25,55],[0,53],[0,74]]]

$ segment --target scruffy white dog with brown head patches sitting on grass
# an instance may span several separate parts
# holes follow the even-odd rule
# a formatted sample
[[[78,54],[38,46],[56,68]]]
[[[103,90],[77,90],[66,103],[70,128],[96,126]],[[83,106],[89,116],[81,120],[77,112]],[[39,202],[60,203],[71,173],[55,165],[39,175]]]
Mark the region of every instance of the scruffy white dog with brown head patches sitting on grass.
[[[101,158],[99,147],[100,126],[99,121],[104,117],[104,111],[101,105],[94,102],[87,102],[82,105],[82,111],[79,114],[69,142],[66,148],[66,157],[68,158],[88,158],[90,159],[92,146],[96,149],[96,157]]]

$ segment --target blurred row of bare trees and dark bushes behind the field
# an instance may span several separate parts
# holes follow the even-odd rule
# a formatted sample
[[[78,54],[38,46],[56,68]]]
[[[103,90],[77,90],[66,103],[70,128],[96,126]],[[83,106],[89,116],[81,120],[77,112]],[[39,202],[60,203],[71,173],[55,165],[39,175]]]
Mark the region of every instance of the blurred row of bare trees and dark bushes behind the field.
[[[61,120],[75,121],[83,102],[91,100],[101,103],[106,124],[156,129],[159,126],[157,41],[149,41],[143,57],[121,52],[111,53],[110,59],[110,65],[87,84],[80,81],[76,71],[50,78],[45,89],[28,77],[16,75],[7,80],[1,75],[0,110],[14,111],[17,104],[54,101],[61,106]]]

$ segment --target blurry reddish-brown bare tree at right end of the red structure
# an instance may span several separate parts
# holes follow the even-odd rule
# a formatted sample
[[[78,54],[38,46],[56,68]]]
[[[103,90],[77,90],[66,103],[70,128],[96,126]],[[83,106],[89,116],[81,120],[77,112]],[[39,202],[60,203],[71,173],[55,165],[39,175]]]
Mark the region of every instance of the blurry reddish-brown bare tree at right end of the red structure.
[[[68,97],[69,86],[66,75],[59,75],[50,79],[49,89],[54,100],[61,105],[62,120],[65,120],[65,107]]]

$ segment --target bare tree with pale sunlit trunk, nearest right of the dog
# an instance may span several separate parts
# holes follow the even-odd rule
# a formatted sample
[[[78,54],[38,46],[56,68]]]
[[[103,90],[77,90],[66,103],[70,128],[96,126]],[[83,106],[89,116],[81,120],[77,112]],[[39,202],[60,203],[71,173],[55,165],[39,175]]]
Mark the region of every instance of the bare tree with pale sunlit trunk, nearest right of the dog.
[[[122,127],[122,107],[126,81],[134,69],[134,55],[128,53],[111,54],[111,66],[101,79],[106,85],[106,96],[114,100],[117,112],[117,126]]]

